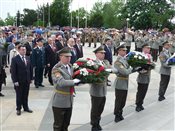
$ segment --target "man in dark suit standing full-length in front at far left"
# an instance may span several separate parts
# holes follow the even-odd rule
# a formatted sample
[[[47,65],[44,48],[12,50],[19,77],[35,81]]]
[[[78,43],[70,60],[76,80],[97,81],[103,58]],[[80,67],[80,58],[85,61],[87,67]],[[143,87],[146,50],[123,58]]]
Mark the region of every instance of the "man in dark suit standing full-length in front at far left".
[[[17,115],[21,115],[21,107],[24,111],[32,113],[28,106],[28,94],[30,83],[32,82],[32,66],[30,58],[26,57],[26,47],[20,45],[18,47],[19,55],[12,59],[11,77],[16,91],[16,110]]]

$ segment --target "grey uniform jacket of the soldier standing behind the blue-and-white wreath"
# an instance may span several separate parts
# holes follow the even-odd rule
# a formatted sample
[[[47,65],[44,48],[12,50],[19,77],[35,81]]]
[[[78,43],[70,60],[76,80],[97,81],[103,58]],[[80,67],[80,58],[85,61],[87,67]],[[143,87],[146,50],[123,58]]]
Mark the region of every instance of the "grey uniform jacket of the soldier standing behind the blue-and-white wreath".
[[[152,56],[150,54],[144,54],[144,55],[149,55],[149,57],[150,57],[149,59],[150,59],[150,61],[152,61]],[[142,84],[149,84],[150,76],[151,76],[151,69],[139,71],[139,75],[137,77],[137,82],[142,83]]]

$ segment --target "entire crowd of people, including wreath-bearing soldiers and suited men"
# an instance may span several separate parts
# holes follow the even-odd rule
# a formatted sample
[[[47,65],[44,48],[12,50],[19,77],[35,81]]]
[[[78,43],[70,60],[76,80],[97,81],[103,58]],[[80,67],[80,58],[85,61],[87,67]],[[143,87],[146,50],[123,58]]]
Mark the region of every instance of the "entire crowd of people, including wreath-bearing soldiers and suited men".
[[[98,48],[97,42],[101,44]],[[171,75],[171,67],[167,65],[166,60],[175,52],[175,35],[154,30],[94,28],[75,31],[46,31],[36,28],[23,31],[17,27],[10,27],[1,30],[0,96],[4,96],[1,89],[2,84],[6,83],[5,68],[9,68],[16,91],[17,115],[21,115],[22,107],[24,111],[32,113],[28,106],[30,84],[34,80],[35,88],[44,87],[43,77],[48,77],[50,85],[55,87],[52,104],[53,129],[67,131],[72,114],[74,86],[81,83],[81,80],[73,79],[72,65],[84,57],[87,43],[89,47],[94,44],[95,62],[103,65],[107,72],[116,74],[115,122],[124,119],[122,114],[127,98],[129,75],[139,73],[135,109],[137,112],[144,110],[144,98],[150,83],[151,69],[132,68],[125,59],[132,44],[135,44],[136,51],[142,52],[152,62],[157,62],[159,56],[161,80],[158,100],[165,99]],[[117,56],[116,61],[113,61],[113,55]],[[102,130],[100,120],[105,106],[107,86],[111,86],[108,78],[103,83],[90,84],[92,131]]]

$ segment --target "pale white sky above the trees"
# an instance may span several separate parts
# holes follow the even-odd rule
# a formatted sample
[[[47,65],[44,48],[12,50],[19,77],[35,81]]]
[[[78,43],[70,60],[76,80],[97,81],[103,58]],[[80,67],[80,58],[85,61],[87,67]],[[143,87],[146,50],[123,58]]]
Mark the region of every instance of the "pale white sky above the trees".
[[[97,1],[106,2],[109,0],[73,0],[72,10],[76,10],[78,7],[84,7],[89,11]],[[5,19],[8,12],[10,15],[15,16],[17,10],[22,12],[24,8],[37,9],[37,5],[52,2],[53,0],[0,0],[0,18]]]

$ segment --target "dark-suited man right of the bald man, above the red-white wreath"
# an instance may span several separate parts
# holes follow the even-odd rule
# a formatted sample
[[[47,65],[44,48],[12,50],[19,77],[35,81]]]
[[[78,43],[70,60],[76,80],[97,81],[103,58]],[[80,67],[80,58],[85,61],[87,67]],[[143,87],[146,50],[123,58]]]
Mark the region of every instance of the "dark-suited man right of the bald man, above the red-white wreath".
[[[74,48],[77,52],[77,59],[82,58],[83,57],[83,47],[81,45],[80,38],[76,39],[76,44],[74,45]]]

